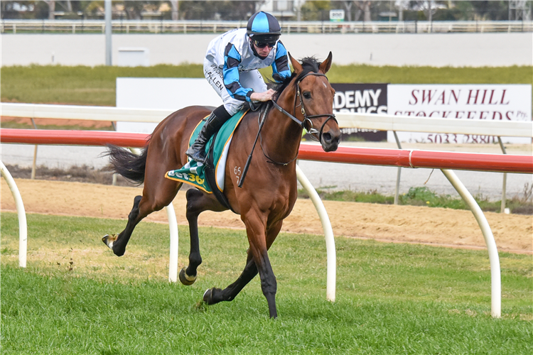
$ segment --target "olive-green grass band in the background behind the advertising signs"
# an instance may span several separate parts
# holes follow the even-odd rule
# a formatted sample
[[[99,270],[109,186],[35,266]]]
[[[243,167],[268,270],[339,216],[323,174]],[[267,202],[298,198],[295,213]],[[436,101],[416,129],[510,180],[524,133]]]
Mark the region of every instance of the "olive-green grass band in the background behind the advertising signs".
[[[262,70],[269,76],[269,68]],[[117,77],[203,77],[202,65],[152,67],[66,67],[30,65],[0,68],[0,101],[115,106]],[[372,67],[333,65],[330,82],[392,84],[532,84],[533,67]]]

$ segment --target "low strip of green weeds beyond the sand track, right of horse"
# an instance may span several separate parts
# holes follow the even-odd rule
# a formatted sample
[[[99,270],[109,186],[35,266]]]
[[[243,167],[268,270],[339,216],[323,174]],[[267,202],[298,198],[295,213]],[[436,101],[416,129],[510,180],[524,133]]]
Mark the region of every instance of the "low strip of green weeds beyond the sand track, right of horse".
[[[531,188],[529,185],[524,187],[524,195],[515,196],[506,200],[505,206],[510,209],[511,213],[515,214],[533,214],[533,202],[531,197]],[[393,204],[394,196],[382,195],[376,190],[372,191],[351,191],[351,190],[330,190],[328,187],[316,189],[318,195],[322,200],[345,201],[345,202],[365,202],[365,203],[379,203],[379,204]],[[298,197],[309,198],[306,190],[298,190]],[[485,212],[500,212],[501,200],[490,201],[488,197],[483,195],[473,196],[474,200],[478,202],[480,208]],[[427,206],[427,207],[442,207],[451,209],[470,209],[458,197],[451,195],[438,195],[429,190],[429,188],[411,187],[409,191],[403,195],[398,196],[398,203],[401,205],[410,206]]]

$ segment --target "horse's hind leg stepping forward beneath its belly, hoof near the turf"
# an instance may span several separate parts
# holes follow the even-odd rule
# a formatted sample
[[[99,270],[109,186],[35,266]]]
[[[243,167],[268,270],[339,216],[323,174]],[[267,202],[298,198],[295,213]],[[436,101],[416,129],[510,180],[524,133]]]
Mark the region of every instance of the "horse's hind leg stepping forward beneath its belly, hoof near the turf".
[[[198,215],[206,210],[224,211],[219,202],[205,195],[200,190],[187,190],[187,221],[189,223],[190,253],[189,265],[180,271],[180,281],[183,285],[193,285],[196,280],[198,266],[202,263],[200,256],[200,241],[198,240]]]

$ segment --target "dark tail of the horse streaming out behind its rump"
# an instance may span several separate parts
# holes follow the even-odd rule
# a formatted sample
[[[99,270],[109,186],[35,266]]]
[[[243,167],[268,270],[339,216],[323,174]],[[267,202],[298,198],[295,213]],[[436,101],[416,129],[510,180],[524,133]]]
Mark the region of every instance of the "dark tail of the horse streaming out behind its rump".
[[[110,170],[139,185],[144,182],[148,146],[143,148],[141,154],[137,155],[119,146],[107,144],[107,152],[103,153],[102,156],[106,155],[109,156]]]

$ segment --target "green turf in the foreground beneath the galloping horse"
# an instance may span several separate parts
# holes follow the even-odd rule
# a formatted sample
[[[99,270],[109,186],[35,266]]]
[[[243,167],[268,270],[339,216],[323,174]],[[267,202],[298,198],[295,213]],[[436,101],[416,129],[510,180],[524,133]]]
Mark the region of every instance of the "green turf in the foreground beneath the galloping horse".
[[[531,354],[532,257],[501,253],[502,318],[490,317],[486,251],[337,237],[337,300],[325,300],[323,236],[281,234],[269,256],[277,320],[259,279],[232,302],[206,288],[244,267],[244,231],[202,228],[198,281],[166,282],[168,226],[141,223],[126,255],[99,241],[125,221],[0,214],[1,354]],[[180,228],[180,266],[188,253]]]

